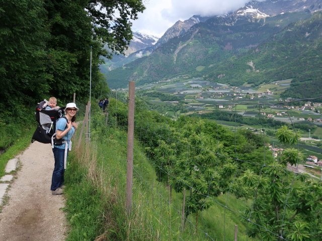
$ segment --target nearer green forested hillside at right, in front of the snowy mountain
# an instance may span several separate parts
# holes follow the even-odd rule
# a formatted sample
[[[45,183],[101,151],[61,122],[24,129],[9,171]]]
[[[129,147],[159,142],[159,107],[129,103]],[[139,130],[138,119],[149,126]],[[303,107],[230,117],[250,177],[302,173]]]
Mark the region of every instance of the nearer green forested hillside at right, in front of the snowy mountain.
[[[321,33],[322,13],[317,12],[290,24],[257,48],[209,68],[206,79],[215,81],[224,74],[220,81],[232,85],[292,79],[285,97],[317,97],[320,93],[314,89],[322,87]]]

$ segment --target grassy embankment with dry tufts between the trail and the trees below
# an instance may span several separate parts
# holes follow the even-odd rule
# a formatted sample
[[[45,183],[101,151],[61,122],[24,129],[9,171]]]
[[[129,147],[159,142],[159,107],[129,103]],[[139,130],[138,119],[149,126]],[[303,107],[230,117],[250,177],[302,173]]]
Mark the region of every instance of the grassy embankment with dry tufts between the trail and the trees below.
[[[112,101],[113,102],[113,101]],[[126,199],[126,132],[104,125],[104,115],[95,114],[90,145],[74,146],[66,170],[66,207],[70,231],[67,240],[232,240],[238,225],[238,240],[247,240],[246,226],[238,215],[224,212],[221,205],[199,212],[181,232],[182,194],[156,181],[152,164],[135,141],[133,171],[133,205],[125,210]],[[114,125],[109,117],[109,125]],[[77,137],[75,137],[77,138]],[[76,143],[76,142],[74,142]],[[229,195],[229,194],[228,194]],[[240,211],[250,203],[232,195],[216,199]],[[190,223],[191,222],[191,223]],[[225,227],[224,227],[225,224]],[[254,240],[248,238],[248,240]]]

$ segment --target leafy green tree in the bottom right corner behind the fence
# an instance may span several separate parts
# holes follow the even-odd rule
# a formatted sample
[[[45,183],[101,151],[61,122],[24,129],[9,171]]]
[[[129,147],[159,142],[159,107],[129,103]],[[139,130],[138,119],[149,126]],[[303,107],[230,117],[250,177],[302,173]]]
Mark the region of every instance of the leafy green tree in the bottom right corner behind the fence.
[[[322,188],[318,182],[303,176],[294,177],[296,174],[291,175],[282,168],[283,165],[274,163],[261,176],[248,170],[238,178],[238,183],[248,187],[238,194],[255,197],[254,204],[245,212],[252,220],[248,235],[265,241],[279,240],[278,236],[294,241],[317,241],[322,233],[320,226],[315,225],[321,220],[322,206],[318,196]]]

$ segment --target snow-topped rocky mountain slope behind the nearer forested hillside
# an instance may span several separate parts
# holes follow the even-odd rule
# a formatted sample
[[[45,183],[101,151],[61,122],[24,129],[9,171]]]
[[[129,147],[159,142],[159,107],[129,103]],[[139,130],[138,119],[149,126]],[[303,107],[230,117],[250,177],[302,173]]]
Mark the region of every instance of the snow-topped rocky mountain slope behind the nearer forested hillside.
[[[211,73],[211,66],[219,66],[230,58],[238,59],[247,51],[256,51],[257,46],[266,41],[274,42],[274,36],[289,24],[300,24],[310,18],[311,13],[321,10],[319,2],[252,1],[233,13],[195,24],[184,34],[160,45],[148,57],[112,71],[109,85],[122,87],[129,80],[143,84],[181,74],[216,76],[216,71]]]

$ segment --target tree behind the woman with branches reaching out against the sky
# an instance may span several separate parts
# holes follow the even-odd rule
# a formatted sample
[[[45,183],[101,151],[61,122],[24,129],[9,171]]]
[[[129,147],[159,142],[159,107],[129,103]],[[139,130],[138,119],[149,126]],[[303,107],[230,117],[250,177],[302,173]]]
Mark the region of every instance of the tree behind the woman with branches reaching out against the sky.
[[[51,92],[64,99],[73,92],[81,98],[88,96],[92,46],[92,86],[94,95],[99,96],[104,90],[100,56],[111,57],[127,47],[132,38],[130,21],[144,10],[141,0],[47,0],[44,7],[51,34],[47,65],[53,76]],[[103,48],[105,44],[110,53]]]

